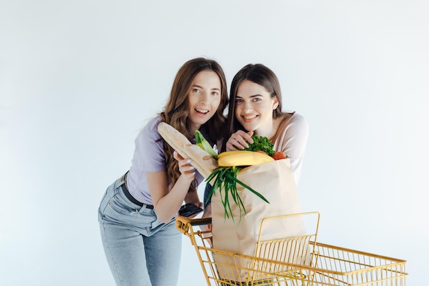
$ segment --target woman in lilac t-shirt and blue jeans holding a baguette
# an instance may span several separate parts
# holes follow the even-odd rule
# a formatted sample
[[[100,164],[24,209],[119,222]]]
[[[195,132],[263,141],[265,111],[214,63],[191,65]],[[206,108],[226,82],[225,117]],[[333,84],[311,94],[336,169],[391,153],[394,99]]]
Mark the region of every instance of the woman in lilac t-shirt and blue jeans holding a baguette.
[[[202,207],[204,178],[158,133],[168,123],[194,141],[195,130],[214,145],[225,128],[225,75],[214,60],[195,58],[177,72],[164,110],[135,140],[130,170],[108,187],[99,206],[99,226],[117,285],[176,285],[182,235],[175,216],[183,202]]]

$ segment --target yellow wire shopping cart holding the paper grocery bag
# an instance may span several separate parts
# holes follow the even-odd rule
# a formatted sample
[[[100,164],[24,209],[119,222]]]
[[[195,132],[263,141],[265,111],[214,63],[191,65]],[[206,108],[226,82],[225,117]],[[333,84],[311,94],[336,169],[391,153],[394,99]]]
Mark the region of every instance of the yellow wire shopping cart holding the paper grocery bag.
[[[262,240],[265,226],[293,216],[316,217],[306,235]],[[250,286],[403,286],[406,261],[319,243],[319,213],[267,217],[262,220],[254,256],[212,247],[211,218],[177,217],[176,227],[191,239],[207,285]],[[245,277],[233,279],[231,277]]]

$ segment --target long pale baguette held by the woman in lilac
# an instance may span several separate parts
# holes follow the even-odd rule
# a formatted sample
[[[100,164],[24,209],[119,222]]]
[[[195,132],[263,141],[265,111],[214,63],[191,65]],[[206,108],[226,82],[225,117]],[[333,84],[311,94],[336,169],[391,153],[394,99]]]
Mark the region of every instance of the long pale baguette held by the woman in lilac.
[[[189,142],[184,134],[177,131],[173,126],[161,122],[158,125],[158,132],[169,145],[182,156],[190,158],[191,165],[199,171],[204,178],[208,178],[212,171],[217,169],[217,161],[201,147]]]

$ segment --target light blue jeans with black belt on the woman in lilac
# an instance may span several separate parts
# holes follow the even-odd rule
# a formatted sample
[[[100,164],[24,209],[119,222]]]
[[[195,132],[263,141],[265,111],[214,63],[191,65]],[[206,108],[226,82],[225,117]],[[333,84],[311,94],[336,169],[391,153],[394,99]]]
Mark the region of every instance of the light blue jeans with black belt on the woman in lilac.
[[[103,248],[119,286],[174,286],[179,276],[182,234],[175,219],[164,224],[153,209],[130,202],[117,180],[101,200]]]

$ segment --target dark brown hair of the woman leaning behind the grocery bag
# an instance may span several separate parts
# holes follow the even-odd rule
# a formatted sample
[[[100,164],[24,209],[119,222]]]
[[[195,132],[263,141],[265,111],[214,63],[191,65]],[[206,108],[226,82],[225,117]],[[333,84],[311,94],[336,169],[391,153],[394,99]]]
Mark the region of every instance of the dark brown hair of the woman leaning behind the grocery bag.
[[[282,116],[282,91],[277,75],[263,64],[247,64],[232,79],[230,89],[230,105],[228,108],[228,119],[226,121],[225,134],[223,138],[228,139],[237,130],[245,130],[235,118],[235,106],[238,86],[245,80],[249,80],[260,86],[271,95],[271,98],[277,97],[278,106],[273,110],[273,118]],[[222,151],[225,151],[225,144],[222,145]]]

